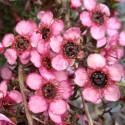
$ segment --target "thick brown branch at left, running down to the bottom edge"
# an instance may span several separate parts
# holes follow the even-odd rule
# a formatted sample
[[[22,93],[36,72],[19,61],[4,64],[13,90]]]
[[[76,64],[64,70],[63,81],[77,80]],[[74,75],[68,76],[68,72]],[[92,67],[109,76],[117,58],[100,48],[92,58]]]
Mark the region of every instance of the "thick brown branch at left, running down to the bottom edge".
[[[20,91],[23,96],[23,104],[24,104],[26,117],[28,120],[28,125],[33,125],[33,119],[32,119],[32,116],[31,116],[30,111],[28,110],[28,106],[27,106],[25,87],[24,87],[24,82],[23,82],[23,70],[22,70],[21,64],[19,64],[19,67],[18,67],[18,80],[19,80]]]

